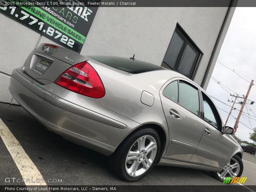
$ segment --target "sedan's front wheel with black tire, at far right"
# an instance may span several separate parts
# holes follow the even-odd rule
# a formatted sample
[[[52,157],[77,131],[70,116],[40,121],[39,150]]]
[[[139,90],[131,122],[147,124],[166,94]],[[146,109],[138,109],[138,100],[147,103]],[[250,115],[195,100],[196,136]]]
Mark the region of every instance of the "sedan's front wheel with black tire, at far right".
[[[231,162],[231,163],[230,163]],[[222,171],[220,171],[220,172],[212,172],[212,175],[213,175],[213,177],[215,178],[215,179],[217,179],[217,180],[220,180],[220,181],[224,181],[224,179],[225,179],[225,177],[240,177],[241,175],[242,175],[242,173],[243,173],[243,170],[244,170],[244,165],[243,165],[243,162],[242,162],[242,159],[239,157],[239,156],[237,156],[237,155],[234,155],[229,161],[228,161],[228,163],[229,163],[229,166],[228,166],[228,164],[227,165],[225,165],[224,167],[223,167],[223,169],[222,169]],[[230,167],[230,165],[233,165],[233,164],[235,164],[235,163],[238,163],[239,164],[239,170],[238,170],[238,168],[232,168],[232,169],[230,169],[230,168],[228,168],[227,169],[227,167]],[[229,170],[230,171],[233,171],[233,172],[237,172],[237,174],[236,175],[232,175],[230,172],[229,172]],[[221,174],[222,173],[226,173],[223,177],[220,177],[221,176]]]

